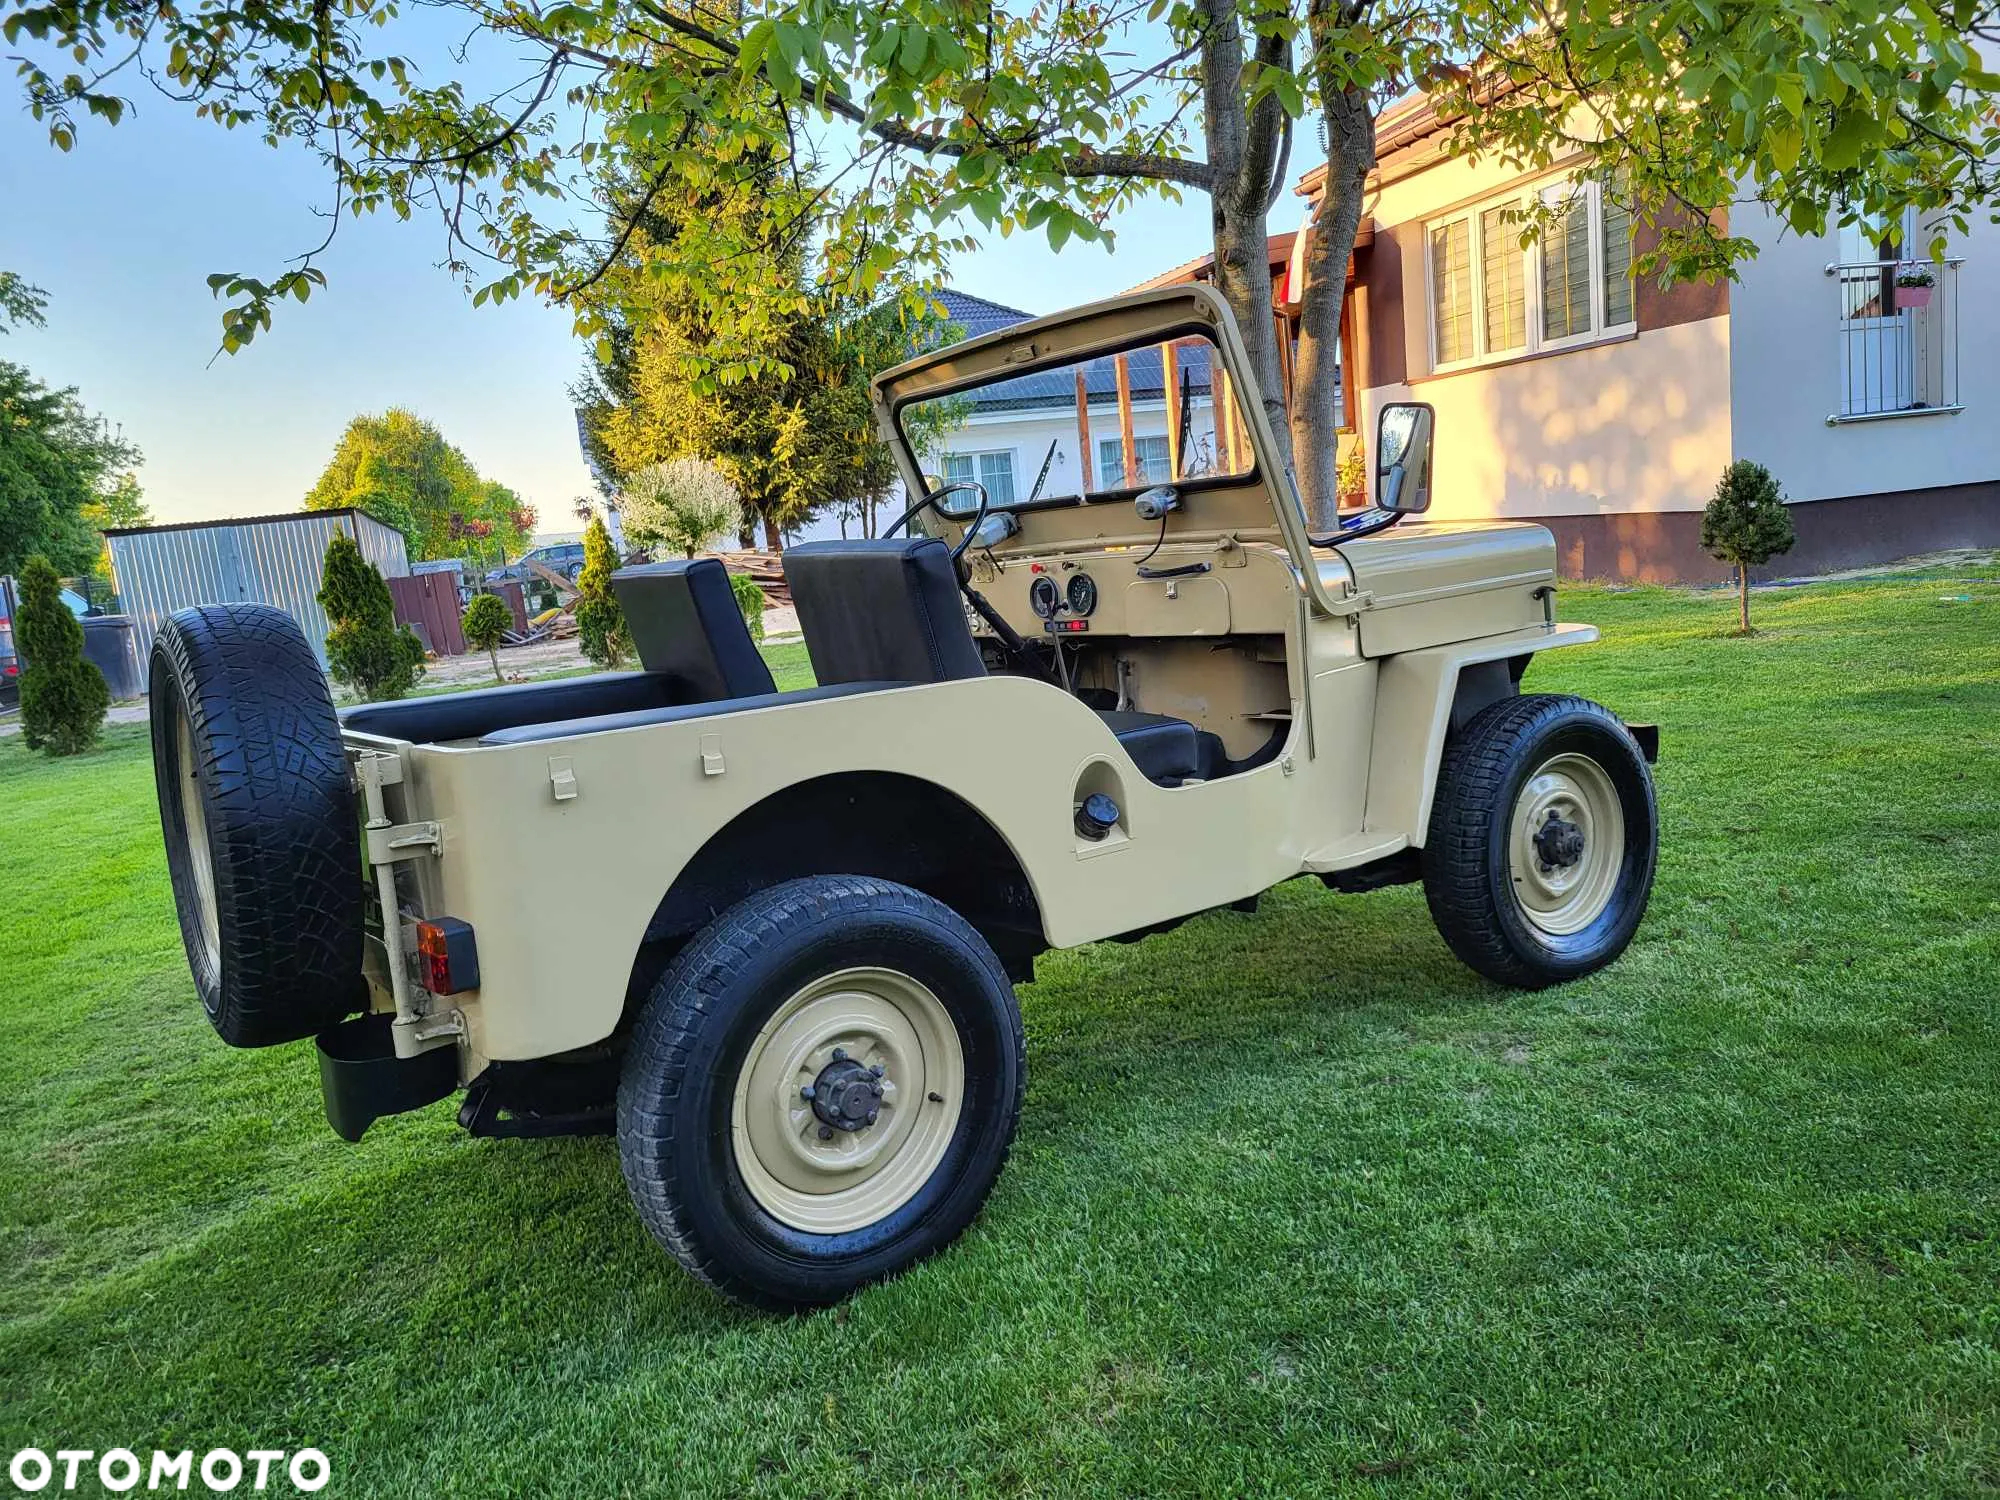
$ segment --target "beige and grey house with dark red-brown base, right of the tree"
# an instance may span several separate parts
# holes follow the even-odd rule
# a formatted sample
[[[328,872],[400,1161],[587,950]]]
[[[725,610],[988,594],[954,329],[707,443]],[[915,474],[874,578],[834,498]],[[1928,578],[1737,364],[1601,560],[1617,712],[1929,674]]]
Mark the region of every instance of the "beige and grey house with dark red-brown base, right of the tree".
[[[1700,510],[1752,458],[1798,530],[1772,572],[2000,544],[2000,228],[1932,266],[1928,224],[1796,236],[1730,206],[1760,248],[1740,282],[1660,288],[1632,274],[1646,226],[1574,162],[1524,174],[1448,132],[1422,96],[1382,114],[1342,320],[1362,434],[1382,402],[1438,410],[1434,516],[1538,520],[1568,576],[1710,580]],[[1508,210],[1536,196],[1570,208],[1524,250]]]

